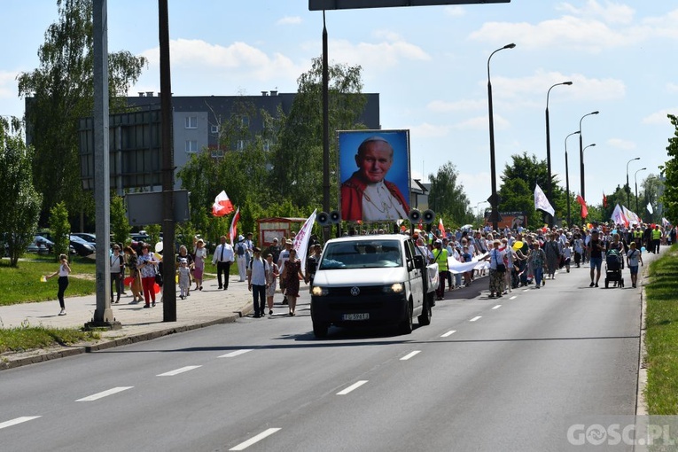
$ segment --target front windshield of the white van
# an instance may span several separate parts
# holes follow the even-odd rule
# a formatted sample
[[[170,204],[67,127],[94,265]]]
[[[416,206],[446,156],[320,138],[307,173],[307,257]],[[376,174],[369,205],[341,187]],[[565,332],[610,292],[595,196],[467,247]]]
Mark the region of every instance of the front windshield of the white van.
[[[329,243],[323,252],[320,269],[380,269],[401,267],[398,240],[355,240]]]

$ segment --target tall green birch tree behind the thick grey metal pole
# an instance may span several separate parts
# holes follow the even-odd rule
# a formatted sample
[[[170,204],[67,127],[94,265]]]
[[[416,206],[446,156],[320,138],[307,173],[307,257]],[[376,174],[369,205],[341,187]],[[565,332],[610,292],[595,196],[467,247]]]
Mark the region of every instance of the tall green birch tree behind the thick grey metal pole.
[[[26,121],[36,152],[34,183],[44,194],[44,208],[64,200],[75,213],[92,203],[91,193],[81,188],[77,124],[94,105],[92,0],[57,0],[57,5],[59,19],[47,28],[38,49],[40,66],[19,75],[19,97],[27,97]],[[108,64],[114,112],[146,59],[119,51],[109,55]]]

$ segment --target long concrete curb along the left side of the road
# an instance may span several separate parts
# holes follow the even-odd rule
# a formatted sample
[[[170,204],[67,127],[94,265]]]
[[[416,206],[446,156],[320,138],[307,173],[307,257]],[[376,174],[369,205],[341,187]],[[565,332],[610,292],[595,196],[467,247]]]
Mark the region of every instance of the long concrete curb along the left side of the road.
[[[249,306],[248,306],[249,305]],[[131,344],[136,344],[137,342],[144,342],[147,340],[162,338],[163,336],[169,336],[170,334],[176,334],[180,332],[186,332],[191,330],[198,330],[199,328],[207,328],[208,326],[214,326],[222,323],[234,323],[238,318],[247,316],[250,312],[253,311],[252,303],[248,303],[245,307],[241,308],[239,311],[234,311],[230,316],[218,317],[213,320],[207,320],[200,323],[191,323],[184,324],[181,326],[170,326],[168,328],[159,330],[144,332],[139,334],[132,334],[129,336],[124,336],[118,339],[100,339],[101,341],[94,345],[88,346],[64,346],[56,347],[51,350],[32,350],[25,352],[23,356],[0,356],[0,370],[10,370],[16,369],[18,367],[26,366],[28,364],[35,364],[38,362],[46,362],[59,358],[66,358],[68,356],[82,355],[85,353],[93,353],[101,350],[106,350],[113,347],[128,346]]]

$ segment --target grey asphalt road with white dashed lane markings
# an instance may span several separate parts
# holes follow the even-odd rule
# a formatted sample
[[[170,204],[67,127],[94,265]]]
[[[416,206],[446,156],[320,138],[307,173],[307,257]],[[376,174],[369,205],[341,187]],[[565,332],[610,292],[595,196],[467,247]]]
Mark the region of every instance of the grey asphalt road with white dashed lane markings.
[[[628,286],[627,286],[628,287]],[[447,294],[409,336],[245,317],[0,372],[3,450],[567,450],[633,415],[640,289]],[[451,297],[455,298],[451,298]],[[12,388],[11,391],[5,388]],[[630,447],[620,450],[631,450]]]

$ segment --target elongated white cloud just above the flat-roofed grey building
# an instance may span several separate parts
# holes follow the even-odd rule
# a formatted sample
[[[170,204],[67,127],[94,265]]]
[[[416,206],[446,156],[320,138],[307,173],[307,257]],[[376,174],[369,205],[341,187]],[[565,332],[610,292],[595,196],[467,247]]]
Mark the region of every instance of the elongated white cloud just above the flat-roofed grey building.
[[[269,56],[247,43],[232,43],[228,47],[206,43],[199,39],[176,39],[170,43],[172,66],[201,72],[228,70],[240,78],[271,80],[281,77],[296,79],[305,69],[296,66],[281,53]],[[158,48],[143,52],[151,66],[158,66]],[[234,75],[236,75],[234,74]]]

